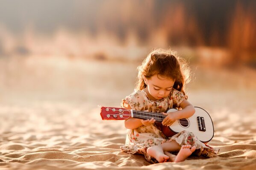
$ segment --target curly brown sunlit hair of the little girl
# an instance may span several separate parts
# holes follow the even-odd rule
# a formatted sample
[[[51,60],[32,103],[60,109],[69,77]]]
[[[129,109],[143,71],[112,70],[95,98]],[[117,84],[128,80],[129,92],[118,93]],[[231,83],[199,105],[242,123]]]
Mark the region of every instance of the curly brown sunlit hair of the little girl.
[[[155,74],[174,79],[174,86],[184,95],[186,83],[190,81],[190,69],[185,59],[177,56],[176,51],[171,49],[157,48],[151,51],[141,65],[138,66],[136,89],[143,90],[147,87],[144,78],[150,78]]]

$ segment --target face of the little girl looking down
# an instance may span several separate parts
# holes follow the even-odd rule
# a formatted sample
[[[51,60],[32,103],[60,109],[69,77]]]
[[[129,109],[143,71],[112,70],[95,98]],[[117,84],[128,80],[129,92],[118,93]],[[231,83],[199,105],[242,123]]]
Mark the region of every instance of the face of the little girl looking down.
[[[159,74],[155,74],[149,79],[144,78],[144,81],[147,84],[145,91],[152,100],[160,100],[169,96],[175,82],[174,79],[162,77]]]

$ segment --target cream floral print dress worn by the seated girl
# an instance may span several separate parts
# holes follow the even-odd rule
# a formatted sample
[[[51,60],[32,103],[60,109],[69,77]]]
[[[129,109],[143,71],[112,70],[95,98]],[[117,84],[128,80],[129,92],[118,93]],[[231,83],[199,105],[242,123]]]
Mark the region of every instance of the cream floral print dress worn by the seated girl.
[[[123,99],[121,107],[127,108],[129,105],[133,110],[137,111],[162,113],[169,108],[179,107],[179,104],[185,99],[187,99],[187,96],[184,96],[174,88],[168,97],[156,101],[151,100],[145,91],[135,91]],[[195,146],[198,156],[215,157],[218,153],[217,150],[209,145],[200,142],[193,133],[185,130],[167,138],[155,123],[148,126],[142,125],[137,129],[127,129],[126,143],[120,149],[131,154],[143,154],[147,161],[157,163],[156,159],[147,154],[147,148],[164,142],[171,142],[172,140],[175,140],[180,146],[186,144]]]

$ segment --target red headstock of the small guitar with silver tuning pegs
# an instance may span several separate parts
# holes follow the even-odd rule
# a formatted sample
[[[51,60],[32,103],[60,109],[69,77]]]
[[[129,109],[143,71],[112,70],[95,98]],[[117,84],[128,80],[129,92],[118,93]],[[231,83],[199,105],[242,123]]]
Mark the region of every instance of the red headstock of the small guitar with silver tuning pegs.
[[[103,120],[125,120],[131,117],[131,111],[124,108],[100,107]]]

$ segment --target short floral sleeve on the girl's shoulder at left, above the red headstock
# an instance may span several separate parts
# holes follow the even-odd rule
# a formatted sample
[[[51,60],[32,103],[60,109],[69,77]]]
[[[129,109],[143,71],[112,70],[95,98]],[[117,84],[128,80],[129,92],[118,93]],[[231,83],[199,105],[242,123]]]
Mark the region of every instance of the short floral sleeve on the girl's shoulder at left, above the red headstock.
[[[125,99],[121,102],[122,108],[127,108],[128,105],[133,109],[137,111],[144,111],[145,106],[145,95],[141,91],[135,91],[129,96],[126,96]]]

